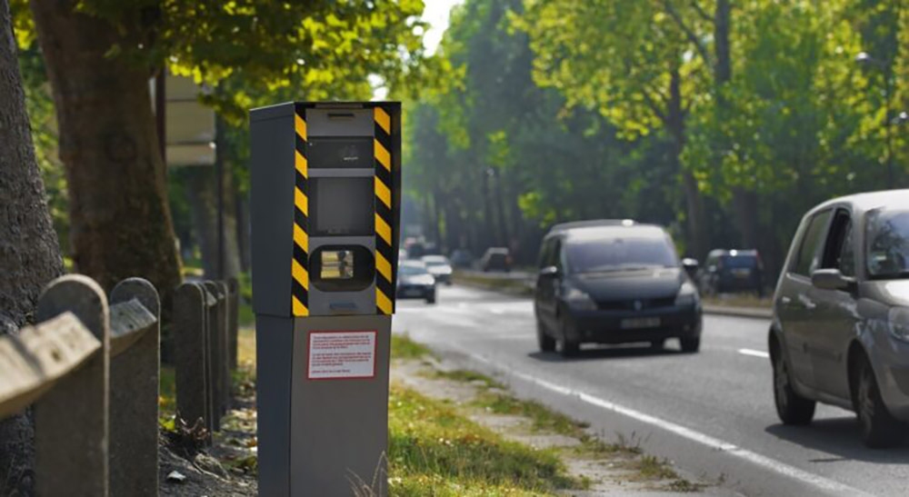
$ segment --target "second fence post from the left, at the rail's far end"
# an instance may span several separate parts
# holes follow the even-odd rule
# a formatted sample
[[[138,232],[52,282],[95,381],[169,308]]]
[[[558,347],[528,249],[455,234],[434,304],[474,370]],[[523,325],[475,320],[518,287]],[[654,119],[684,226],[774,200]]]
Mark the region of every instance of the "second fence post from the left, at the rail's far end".
[[[118,304],[134,299],[151,315],[135,315],[142,313],[135,307],[133,315],[116,313]],[[143,333],[111,358],[110,491],[114,497],[156,497],[161,303],[155,286],[142,278],[118,283],[110,303],[112,333]],[[131,325],[146,325],[147,329],[135,332]]]

